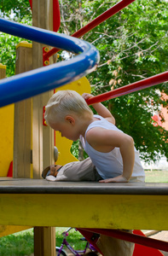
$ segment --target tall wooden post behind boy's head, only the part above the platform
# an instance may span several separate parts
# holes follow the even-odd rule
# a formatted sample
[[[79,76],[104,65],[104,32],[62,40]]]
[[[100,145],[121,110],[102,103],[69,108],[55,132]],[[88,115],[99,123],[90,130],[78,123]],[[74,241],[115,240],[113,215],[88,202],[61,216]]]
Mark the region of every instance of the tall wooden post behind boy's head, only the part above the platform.
[[[32,1],[32,25],[44,29],[53,29],[52,0]],[[33,42],[33,69],[43,67],[43,47],[46,45]],[[50,58],[50,64],[53,58]],[[53,95],[53,90],[32,98],[32,162],[33,177],[41,178],[43,168],[55,163],[54,131],[43,125],[43,107]]]

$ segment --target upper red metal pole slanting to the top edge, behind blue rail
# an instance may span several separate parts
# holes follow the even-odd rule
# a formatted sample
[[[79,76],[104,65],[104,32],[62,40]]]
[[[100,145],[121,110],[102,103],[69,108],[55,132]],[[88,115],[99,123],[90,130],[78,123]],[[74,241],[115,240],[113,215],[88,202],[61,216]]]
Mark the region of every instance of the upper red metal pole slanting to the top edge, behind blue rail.
[[[115,4],[112,8],[107,9],[106,12],[98,16],[95,20],[92,20],[89,24],[86,26],[82,27],[81,29],[78,30],[78,32],[74,32],[72,34],[72,37],[74,38],[79,38],[83,36],[86,32],[89,32],[91,29],[94,27],[98,26],[101,24],[104,20],[107,20],[111,16],[115,15],[116,13],[119,12],[119,10],[124,9],[127,5],[130,3],[134,2],[135,0],[122,0],[119,3]],[[49,58],[50,56],[54,55],[57,51],[60,49],[50,49],[48,53],[46,53],[46,58]]]

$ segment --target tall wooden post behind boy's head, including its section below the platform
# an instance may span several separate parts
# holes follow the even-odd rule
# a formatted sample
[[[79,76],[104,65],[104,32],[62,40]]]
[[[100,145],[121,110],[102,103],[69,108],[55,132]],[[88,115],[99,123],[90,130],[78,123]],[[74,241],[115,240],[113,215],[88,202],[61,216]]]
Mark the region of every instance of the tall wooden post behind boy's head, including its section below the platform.
[[[53,30],[53,1],[32,0],[32,26]],[[47,45],[32,43],[33,69],[43,67],[43,47]],[[50,64],[52,60],[50,58]],[[32,163],[33,177],[41,178],[43,168],[55,163],[54,131],[43,125],[43,107],[53,91],[32,98]],[[34,255],[55,256],[55,228],[34,228]]]

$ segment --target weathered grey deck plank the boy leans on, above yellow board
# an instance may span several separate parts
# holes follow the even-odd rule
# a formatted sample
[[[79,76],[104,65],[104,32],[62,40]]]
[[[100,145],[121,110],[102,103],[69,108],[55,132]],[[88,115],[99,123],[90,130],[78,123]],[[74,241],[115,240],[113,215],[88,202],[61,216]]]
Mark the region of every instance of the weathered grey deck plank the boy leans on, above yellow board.
[[[48,182],[31,178],[0,178],[5,194],[168,195],[168,183]]]

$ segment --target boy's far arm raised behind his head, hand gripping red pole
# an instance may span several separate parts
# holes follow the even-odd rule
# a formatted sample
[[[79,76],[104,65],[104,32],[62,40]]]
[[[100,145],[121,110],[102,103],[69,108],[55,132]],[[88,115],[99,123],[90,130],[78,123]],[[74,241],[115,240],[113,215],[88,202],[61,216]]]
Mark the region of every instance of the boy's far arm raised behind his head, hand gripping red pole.
[[[83,96],[84,100],[88,100],[91,97],[93,97],[89,93],[84,93],[82,96]],[[115,119],[114,119],[112,113],[110,113],[110,111],[104,105],[102,105],[101,103],[95,103],[92,105],[92,107],[95,108],[96,113],[101,115],[101,117],[107,119],[108,122],[111,122],[113,125],[115,125]]]

